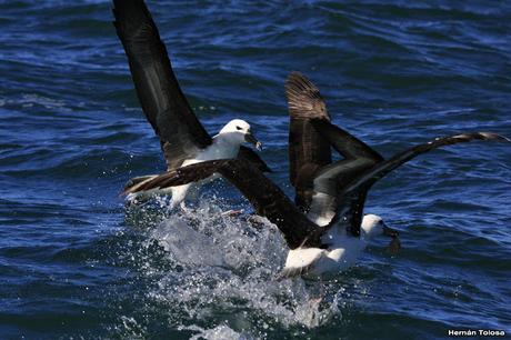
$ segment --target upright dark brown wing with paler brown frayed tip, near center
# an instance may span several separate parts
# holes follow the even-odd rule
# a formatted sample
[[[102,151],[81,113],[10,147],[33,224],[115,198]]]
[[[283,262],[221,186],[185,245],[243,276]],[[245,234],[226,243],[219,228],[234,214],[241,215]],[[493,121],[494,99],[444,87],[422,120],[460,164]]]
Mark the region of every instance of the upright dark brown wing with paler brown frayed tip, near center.
[[[314,118],[330,120],[318,88],[303,74],[292,72],[285,82],[289,124],[289,177],[295,189],[295,202],[308,210],[312,174],[332,161],[329,142],[311,126]]]

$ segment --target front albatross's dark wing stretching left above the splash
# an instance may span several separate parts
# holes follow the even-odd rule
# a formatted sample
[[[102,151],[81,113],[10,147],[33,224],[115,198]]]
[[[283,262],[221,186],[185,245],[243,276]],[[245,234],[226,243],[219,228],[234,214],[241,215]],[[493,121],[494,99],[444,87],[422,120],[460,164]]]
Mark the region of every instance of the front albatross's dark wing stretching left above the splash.
[[[162,173],[144,182],[137,190],[182,186],[208,178],[216,172],[237,187],[258,214],[277,224],[290,249],[321,246],[323,228],[311,222],[278,186],[247,160],[222,159],[194,163]]]

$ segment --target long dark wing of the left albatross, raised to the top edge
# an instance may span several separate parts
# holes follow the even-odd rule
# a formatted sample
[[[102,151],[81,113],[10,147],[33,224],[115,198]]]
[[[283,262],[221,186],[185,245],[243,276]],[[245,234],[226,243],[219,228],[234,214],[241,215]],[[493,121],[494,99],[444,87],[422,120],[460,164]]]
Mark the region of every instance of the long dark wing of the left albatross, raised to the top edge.
[[[211,144],[172,71],[167,48],[142,0],[114,0],[113,24],[124,47],[137,94],[169,169]]]

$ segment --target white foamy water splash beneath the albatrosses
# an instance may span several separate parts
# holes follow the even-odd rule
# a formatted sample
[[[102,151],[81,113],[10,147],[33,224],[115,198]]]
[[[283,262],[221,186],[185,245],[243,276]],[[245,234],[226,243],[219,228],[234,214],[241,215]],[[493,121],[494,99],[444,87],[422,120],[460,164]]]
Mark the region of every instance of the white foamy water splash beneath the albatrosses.
[[[167,262],[164,269],[144,264],[143,273],[158,277],[148,300],[168,308],[170,322],[199,338],[250,339],[278,328],[317,328],[339,317],[339,286],[277,279],[287,246],[275,226],[226,216],[222,208],[203,201],[166,214],[148,232],[146,247],[157,242]]]

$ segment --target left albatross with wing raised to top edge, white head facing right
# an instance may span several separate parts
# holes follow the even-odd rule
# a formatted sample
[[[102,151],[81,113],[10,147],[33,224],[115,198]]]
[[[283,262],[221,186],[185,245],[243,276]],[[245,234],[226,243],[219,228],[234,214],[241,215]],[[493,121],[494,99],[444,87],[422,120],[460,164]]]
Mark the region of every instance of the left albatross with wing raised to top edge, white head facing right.
[[[214,137],[202,127],[179,87],[167,48],[142,0],[114,0],[113,16],[113,24],[128,57],[140,104],[160,138],[168,171],[202,161],[236,157],[253,162],[262,171],[270,171],[252,149],[241,146],[249,142],[259,151],[262,146],[244,120],[229,121]],[[123,193],[132,198],[136,192],[150,194],[154,191],[170,191],[172,208],[183,202],[190,183],[167,190],[140,190],[154,177],[150,174],[131,179]]]

